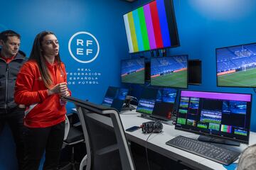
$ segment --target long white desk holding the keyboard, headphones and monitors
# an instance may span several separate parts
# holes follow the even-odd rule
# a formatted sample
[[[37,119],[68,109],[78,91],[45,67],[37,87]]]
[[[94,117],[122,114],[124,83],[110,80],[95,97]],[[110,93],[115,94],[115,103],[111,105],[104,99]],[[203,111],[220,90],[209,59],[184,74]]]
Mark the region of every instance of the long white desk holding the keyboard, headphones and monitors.
[[[122,112],[120,114],[120,118],[122,120],[122,124],[124,126],[124,130],[127,128],[130,128],[134,125],[142,125],[142,123],[149,121],[144,118],[139,118],[138,113],[136,111],[126,111]],[[177,149],[175,147],[171,147],[169,145],[166,145],[165,143],[172,138],[183,135],[186,137],[190,137],[193,139],[197,139],[199,135],[196,135],[191,132],[184,132],[181,130],[175,130],[174,125],[165,125],[163,128],[163,132],[160,134],[152,134],[149,137],[149,134],[142,133],[142,130],[136,130],[134,132],[126,132],[127,139],[136,142],[139,145],[145,146],[146,138],[149,137],[147,147],[151,149],[154,152],[157,152],[159,154],[164,155],[165,157],[169,157],[170,159],[180,161],[181,164],[185,164],[186,166],[189,166],[193,169],[216,169],[216,170],[225,170],[222,164],[218,164],[217,162],[213,162],[210,159],[206,159],[200,156],[197,156],[196,154],[191,154],[189,152],[183,151],[181,149]],[[256,143],[256,133],[250,132],[250,142],[249,145],[253,145]],[[214,144],[218,145],[218,144]],[[242,152],[243,149],[245,149],[247,145],[241,144],[240,147],[232,147],[228,146],[228,149],[233,149],[238,152]],[[236,161],[238,163],[238,160]]]

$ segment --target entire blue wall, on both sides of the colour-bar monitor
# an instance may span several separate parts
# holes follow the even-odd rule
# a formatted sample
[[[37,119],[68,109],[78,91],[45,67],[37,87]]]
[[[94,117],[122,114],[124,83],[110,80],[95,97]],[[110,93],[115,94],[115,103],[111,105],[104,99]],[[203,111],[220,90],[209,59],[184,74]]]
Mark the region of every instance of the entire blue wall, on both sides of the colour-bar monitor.
[[[101,73],[99,84],[70,85],[73,96],[100,103],[107,86],[120,85],[119,60],[129,58],[122,15],[146,2],[9,0],[1,2],[0,31],[13,29],[20,33],[21,50],[29,55],[36,34],[53,30],[60,40],[60,55],[68,72],[87,68]],[[216,47],[256,42],[256,1],[174,0],[174,8],[181,47],[169,50],[169,55],[188,54],[189,59],[203,62],[203,84],[188,86],[188,89],[253,94],[251,129],[256,131],[254,91],[217,87],[215,77]],[[100,54],[90,64],[76,62],[68,52],[70,37],[79,31],[92,33],[100,43]],[[149,56],[149,52],[142,55]],[[0,135],[0,169],[16,169],[14,159],[14,143],[6,127]]]

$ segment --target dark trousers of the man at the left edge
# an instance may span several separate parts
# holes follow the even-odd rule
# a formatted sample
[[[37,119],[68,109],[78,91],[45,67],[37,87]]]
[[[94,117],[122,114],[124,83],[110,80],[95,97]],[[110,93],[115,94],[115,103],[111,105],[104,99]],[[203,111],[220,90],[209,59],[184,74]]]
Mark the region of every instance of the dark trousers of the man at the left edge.
[[[14,137],[14,142],[16,144],[16,157],[18,160],[18,169],[23,166],[24,157],[24,145],[23,145],[23,118],[24,118],[24,108],[9,108],[0,109],[0,135],[1,130],[4,129],[4,125],[7,123],[11,129],[12,136]]]

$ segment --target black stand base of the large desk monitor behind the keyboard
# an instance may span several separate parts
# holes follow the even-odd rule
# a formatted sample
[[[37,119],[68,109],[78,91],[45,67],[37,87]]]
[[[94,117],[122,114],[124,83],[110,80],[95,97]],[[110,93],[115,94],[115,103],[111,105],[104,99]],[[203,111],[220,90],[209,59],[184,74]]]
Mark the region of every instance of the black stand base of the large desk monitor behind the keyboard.
[[[202,141],[202,142],[211,142],[211,143],[218,143],[218,144],[223,144],[223,145],[233,145],[233,146],[240,147],[240,142],[235,142],[235,141],[232,141],[232,140],[219,139],[217,137],[208,137],[208,136],[200,135],[198,137],[198,140]]]

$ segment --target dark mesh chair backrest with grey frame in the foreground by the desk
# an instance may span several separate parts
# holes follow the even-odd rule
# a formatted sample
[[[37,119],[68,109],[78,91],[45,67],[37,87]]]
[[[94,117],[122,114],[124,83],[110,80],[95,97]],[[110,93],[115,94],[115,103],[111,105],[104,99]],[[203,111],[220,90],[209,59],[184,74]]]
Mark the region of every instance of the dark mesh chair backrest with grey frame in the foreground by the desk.
[[[65,99],[78,111],[87,149],[86,169],[135,169],[118,111],[73,97]]]

